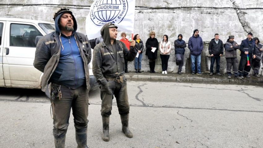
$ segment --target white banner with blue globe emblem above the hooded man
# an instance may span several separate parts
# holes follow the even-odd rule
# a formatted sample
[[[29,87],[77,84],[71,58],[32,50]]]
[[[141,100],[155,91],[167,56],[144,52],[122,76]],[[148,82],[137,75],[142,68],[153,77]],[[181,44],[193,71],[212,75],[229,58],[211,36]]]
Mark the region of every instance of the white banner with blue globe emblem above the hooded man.
[[[101,36],[101,27],[114,23],[118,31],[133,33],[135,0],[95,0],[86,18],[88,39]]]

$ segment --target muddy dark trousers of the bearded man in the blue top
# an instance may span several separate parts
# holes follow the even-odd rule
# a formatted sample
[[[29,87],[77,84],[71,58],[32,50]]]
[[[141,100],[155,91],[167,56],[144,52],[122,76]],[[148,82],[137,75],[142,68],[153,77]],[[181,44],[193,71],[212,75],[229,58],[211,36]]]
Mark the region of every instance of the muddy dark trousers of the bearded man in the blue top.
[[[51,101],[54,115],[53,135],[57,139],[64,137],[67,133],[71,108],[76,131],[86,131],[88,127],[88,89],[79,87],[73,90],[64,86],[61,86],[60,89],[61,99],[56,98]]]

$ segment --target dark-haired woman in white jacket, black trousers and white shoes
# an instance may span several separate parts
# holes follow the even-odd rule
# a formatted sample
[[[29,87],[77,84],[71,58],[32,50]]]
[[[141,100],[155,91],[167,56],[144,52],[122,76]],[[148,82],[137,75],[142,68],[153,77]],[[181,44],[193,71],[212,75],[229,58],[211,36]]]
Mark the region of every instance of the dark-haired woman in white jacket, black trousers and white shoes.
[[[162,60],[162,74],[167,74],[168,60],[171,51],[171,42],[168,41],[168,36],[164,35],[163,40],[160,43],[160,57]]]

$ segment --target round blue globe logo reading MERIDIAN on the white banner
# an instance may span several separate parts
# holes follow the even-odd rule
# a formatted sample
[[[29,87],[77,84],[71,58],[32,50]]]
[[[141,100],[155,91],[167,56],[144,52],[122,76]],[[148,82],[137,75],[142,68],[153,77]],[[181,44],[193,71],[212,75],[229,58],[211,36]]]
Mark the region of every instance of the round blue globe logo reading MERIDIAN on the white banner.
[[[97,26],[106,23],[120,23],[128,11],[127,0],[95,0],[91,6],[90,18]]]

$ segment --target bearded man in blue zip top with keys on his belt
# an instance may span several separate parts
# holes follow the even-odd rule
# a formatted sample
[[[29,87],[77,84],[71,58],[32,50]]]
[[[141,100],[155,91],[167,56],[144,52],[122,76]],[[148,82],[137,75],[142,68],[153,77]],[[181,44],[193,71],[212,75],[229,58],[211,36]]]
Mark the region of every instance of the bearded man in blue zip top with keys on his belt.
[[[76,32],[77,22],[68,8],[60,9],[53,19],[56,31],[37,43],[34,67],[44,73],[42,91],[51,82],[55,147],[65,147],[72,108],[78,148],[87,148],[90,44]]]

